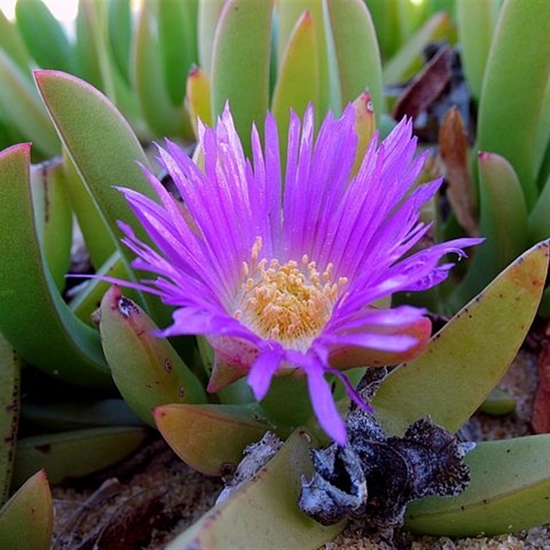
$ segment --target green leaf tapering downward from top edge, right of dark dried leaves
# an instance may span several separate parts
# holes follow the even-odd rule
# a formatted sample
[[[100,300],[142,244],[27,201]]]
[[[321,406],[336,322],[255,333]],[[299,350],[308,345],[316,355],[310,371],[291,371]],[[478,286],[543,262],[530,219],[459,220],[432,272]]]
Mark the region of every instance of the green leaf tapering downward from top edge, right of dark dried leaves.
[[[456,28],[468,87],[478,101],[500,2],[457,0]]]

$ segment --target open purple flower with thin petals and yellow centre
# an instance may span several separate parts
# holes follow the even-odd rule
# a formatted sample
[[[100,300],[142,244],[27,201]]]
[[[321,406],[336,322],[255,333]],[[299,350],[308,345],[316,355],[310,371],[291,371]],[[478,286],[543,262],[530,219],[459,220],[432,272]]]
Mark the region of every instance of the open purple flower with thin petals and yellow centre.
[[[216,352],[210,391],[248,375],[261,400],[274,375],[305,374],[316,417],[340,444],[344,422],[325,375],[342,378],[357,400],[341,369],[410,358],[430,336],[423,309],[373,303],[437,285],[453,265],[439,265],[442,257],[481,241],[408,254],[429,229],[419,211],[441,181],[412,190],[424,157],[415,159],[406,120],[380,146],[373,138],[351,177],[354,121],[351,106],[338,120],[329,114],[315,138],[311,106],[301,123],[293,114],[283,175],[272,115],[264,147],[252,129],[250,162],[226,107],[215,129],[200,126],[203,170],[176,144],[159,148],[183,204],[151,173],[160,203],[121,189],[157,248],[120,223],[133,267],[157,274],[137,287],[177,308],[162,336],[208,338]]]

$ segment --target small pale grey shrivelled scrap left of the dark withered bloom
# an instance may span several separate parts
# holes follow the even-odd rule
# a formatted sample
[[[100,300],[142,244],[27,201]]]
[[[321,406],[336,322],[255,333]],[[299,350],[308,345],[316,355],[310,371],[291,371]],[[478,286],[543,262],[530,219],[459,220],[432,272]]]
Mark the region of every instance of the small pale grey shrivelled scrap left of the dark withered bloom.
[[[245,448],[244,456],[236,468],[234,476],[225,481],[225,487],[219,494],[216,505],[227,500],[229,496],[239,489],[243,483],[252,479],[256,472],[259,472],[283,446],[283,441],[272,432],[266,432],[260,441],[252,443]]]

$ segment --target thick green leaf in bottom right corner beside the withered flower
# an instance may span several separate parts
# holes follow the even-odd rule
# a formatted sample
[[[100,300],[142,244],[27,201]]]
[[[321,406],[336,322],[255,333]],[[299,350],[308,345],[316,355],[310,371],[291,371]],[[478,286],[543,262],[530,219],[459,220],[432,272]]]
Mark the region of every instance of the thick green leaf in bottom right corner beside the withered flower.
[[[550,521],[550,437],[481,441],[465,457],[472,479],[455,498],[411,503],[406,529],[445,536],[494,536]]]

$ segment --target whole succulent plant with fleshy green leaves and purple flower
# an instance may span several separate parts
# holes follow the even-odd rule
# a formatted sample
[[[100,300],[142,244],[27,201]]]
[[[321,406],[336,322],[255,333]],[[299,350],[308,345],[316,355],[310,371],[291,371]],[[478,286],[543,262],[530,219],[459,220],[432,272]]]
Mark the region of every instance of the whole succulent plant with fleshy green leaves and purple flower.
[[[316,548],[347,520],[300,511],[303,476],[315,466],[340,495],[344,477],[319,481],[321,457],[360,455],[362,497],[334,517],[368,512],[380,467],[369,449],[412,441],[428,462],[421,432],[455,445],[469,484],[428,480],[409,496],[432,496],[412,503],[398,494],[388,525],[474,536],[550,520],[547,435],[465,456],[471,445],[452,435],[514,359],[547,278],[548,8],[445,5],[452,17],[437,2],[147,1],[134,20],[129,2],[80,1],[74,44],[41,2],[20,2],[16,24],[0,14],[1,547],[49,547],[52,500],[36,470],[52,483],[85,475],[151,428],[208,475],[274,434],[248,452],[263,453],[257,471],[170,547]],[[445,118],[445,220],[432,201],[441,181],[426,183],[437,176],[421,173],[426,154],[414,156],[411,123],[391,120],[383,94],[448,69],[444,52],[422,68],[439,39],[461,46],[483,151],[472,160],[460,116]],[[149,148],[163,136],[164,170]],[[180,145],[194,140],[191,159]],[[445,254],[473,245],[449,275]],[[68,271],[94,276],[67,290]],[[424,291],[415,305],[413,291]],[[427,308],[458,313],[429,338]],[[299,325],[310,314],[317,324]],[[355,389],[364,367],[398,363],[376,392]],[[40,525],[20,529],[30,509]]]

